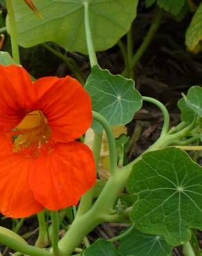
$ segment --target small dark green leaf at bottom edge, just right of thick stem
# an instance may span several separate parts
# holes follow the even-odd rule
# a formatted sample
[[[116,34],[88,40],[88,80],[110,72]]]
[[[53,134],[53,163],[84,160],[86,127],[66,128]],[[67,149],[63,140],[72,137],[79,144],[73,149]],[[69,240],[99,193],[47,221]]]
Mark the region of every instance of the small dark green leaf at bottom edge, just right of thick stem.
[[[113,243],[98,239],[84,251],[84,256],[121,256]]]

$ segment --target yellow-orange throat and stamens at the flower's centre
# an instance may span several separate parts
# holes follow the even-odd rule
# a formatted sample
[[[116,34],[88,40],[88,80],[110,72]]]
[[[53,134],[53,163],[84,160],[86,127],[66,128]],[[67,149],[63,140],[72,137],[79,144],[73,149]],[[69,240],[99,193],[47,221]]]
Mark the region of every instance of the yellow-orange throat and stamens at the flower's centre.
[[[12,152],[23,152],[30,149],[37,155],[38,149],[48,143],[50,127],[42,111],[36,110],[28,115],[12,129]]]

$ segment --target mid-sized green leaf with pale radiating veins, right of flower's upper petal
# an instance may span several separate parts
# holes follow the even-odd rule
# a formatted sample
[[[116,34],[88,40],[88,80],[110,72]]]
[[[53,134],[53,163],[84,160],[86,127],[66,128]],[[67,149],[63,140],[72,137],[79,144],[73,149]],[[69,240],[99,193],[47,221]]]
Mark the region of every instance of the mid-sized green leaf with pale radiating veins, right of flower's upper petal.
[[[127,124],[143,104],[133,80],[111,75],[98,66],[93,66],[85,89],[91,95],[93,110],[101,113],[111,125]],[[102,131],[98,122],[93,122],[92,127],[95,132]]]

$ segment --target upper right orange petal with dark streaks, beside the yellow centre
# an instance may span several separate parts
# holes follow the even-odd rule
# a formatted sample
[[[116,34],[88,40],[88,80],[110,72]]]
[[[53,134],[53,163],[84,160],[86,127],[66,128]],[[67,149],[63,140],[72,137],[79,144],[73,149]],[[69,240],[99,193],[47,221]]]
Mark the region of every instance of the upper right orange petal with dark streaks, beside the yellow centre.
[[[72,77],[43,77],[35,82],[37,109],[48,119],[53,140],[68,142],[82,136],[92,122],[91,98]]]

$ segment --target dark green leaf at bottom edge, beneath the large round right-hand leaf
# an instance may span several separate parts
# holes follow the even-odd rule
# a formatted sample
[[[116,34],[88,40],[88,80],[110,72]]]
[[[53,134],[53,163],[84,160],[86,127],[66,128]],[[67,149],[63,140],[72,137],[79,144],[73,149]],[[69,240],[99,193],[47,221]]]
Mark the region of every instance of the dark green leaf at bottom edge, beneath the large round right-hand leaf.
[[[172,246],[169,246],[161,235],[149,235],[134,228],[126,237],[120,240],[118,251],[130,256],[169,256]]]

